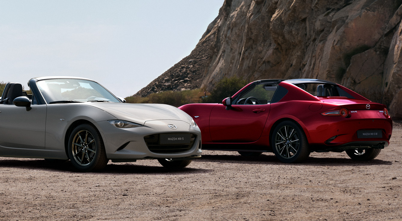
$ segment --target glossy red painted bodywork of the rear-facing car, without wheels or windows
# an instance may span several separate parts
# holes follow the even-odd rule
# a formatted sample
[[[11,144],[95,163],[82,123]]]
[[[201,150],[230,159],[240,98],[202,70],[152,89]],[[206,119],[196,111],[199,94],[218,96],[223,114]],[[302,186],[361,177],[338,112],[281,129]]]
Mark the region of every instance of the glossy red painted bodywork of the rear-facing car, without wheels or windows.
[[[273,130],[284,120],[299,124],[306,134],[312,151],[388,146],[392,134],[392,120],[384,113],[385,105],[369,101],[335,83],[332,83],[334,87],[343,90],[342,93],[350,97],[314,96],[299,87],[297,80],[319,81],[283,80],[277,86],[286,89],[287,93],[274,103],[232,104],[230,109],[222,103],[197,103],[179,108],[192,116],[201,128],[202,143],[207,144],[203,146],[204,149],[269,152],[272,150],[270,140]],[[269,80],[261,82],[264,81]],[[246,85],[233,95],[232,99],[240,101],[240,96],[248,93],[245,91],[249,90],[249,87],[263,84],[259,82],[255,81]],[[285,90],[282,89],[282,91]],[[276,93],[277,91],[275,95]],[[322,114],[342,108],[347,109],[347,117]],[[378,136],[377,138],[358,138],[359,130],[381,131],[382,136],[381,138]],[[210,148],[208,144],[219,145]],[[221,144],[230,144],[230,146],[224,147]]]

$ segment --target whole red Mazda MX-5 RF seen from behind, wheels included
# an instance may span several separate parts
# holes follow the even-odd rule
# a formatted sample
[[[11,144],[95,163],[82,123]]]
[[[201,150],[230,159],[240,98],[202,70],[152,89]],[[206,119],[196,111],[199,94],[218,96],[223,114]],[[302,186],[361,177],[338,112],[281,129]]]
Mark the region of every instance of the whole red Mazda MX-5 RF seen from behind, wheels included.
[[[222,103],[179,108],[201,128],[204,150],[274,152],[289,163],[313,151],[346,151],[353,160],[372,160],[392,134],[386,105],[317,79],[254,81]]]

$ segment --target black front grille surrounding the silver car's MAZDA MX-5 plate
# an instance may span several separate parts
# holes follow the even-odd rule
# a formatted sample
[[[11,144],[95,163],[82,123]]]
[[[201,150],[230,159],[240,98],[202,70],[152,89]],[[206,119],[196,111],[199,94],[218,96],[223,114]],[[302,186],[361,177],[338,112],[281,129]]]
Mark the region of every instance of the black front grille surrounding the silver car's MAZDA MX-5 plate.
[[[152,134],[144,137],[145,143],[151,152],[157,154],[172,154],[186,152],[191,149],[197,135],[191,134],[190,144],[160,144],[160,134]]]

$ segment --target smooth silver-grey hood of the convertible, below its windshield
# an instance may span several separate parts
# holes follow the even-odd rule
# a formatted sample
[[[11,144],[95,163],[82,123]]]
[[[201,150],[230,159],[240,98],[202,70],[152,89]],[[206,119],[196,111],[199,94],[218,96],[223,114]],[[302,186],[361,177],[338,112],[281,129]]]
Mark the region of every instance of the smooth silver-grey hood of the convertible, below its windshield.
[[[193,118],[177,107],[166,104],[95,102],[85,104],[102,109],[119,120],[127,120],[142,125],[150,120],[182,120],[189,124],[193,120]]]

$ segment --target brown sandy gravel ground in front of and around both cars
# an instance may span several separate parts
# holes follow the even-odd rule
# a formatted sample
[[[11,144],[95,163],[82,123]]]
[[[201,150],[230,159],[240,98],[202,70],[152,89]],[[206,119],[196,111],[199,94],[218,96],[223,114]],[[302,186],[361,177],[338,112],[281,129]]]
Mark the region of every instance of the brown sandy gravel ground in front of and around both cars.
[[[139,160],[80,173],[70,162],[0,157],[0,220],[402,220],[401,137],[394,124],[391,145],[369,162],[205,151],[178,171]]]

